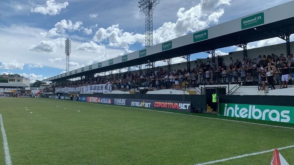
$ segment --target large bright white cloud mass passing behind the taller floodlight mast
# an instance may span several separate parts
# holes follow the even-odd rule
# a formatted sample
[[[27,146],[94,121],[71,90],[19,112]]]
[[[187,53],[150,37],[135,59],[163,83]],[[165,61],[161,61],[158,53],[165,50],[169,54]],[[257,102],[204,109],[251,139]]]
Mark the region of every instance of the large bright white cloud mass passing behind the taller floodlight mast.
[[[165,22],[162,27],[153,31],[153,44],[162,43],[173,38],[186,35],[189,32],[205,29],[210,24],[218,24],[224,14],[223,5],[230,5],[232,0],[201,0],[189,10],[180,8],[175,23]],[[140,42],[145,44],[145,35],[133,32],[123,32],[119,25],[107,29],[99,28],[94,35],[95,42],[108,41],[108,46],[128,48]]]

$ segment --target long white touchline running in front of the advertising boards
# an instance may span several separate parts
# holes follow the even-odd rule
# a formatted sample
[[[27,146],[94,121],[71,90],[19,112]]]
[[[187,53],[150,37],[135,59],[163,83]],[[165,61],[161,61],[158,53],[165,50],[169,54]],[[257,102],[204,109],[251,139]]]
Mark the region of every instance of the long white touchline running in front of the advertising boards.
[[[42,98],[42,99],[45,99],[45,98]],[[54,99],[54,100],[55,100],[55,99]],[[62,101],[70,101],[70,100],[62,100]],[[79,101],[77,101],[77,102],[79,102]],[[96,105],[105,105],[105,104],[97,104],[97,103],[91,103],[91,102],[82,102],[82,103],[96,104]],[[117,105],[105,105],[105,106],[122,107],[122,106],[117,106]],[[242,122],[242,121],[237,121],[237,120],[219,119],[219,118],[204,117],[204,116],[194,116],[194,115],[187,115],[187,114],[174,113],[174,112],[166,112],[166,111],[160,111],[160,110],[151,110],[151,109],[134,108],[134,107],[125,107],[125,108],[133,108],[133,109],[140,109],[140,110],[150,110],[150,111],[155,111],[155,112],[173,113],[173,114],[178,114],[178,115],[193,116],[193,117],[201,117],[201,118],[206,118],[206,119],[216,119],[216,120],[224,120],[224,121],[230,121],[230,122],[240,122],[240,123],[247,123],[247,124],[264,125],[264,126],[269,126],[269,127],[279,127],[279,128],[294,129],[294,127],[282,127],[282,126],[276,126],[276,125],[259,124],[259,123],[251,123],[251,122]]]

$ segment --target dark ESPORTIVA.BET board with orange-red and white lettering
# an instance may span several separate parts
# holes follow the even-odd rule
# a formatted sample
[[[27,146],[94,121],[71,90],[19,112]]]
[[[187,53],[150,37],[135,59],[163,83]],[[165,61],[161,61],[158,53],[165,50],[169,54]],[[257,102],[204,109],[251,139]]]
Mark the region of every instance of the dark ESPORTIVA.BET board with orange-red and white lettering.
[[[172,101],[172,100],[155,100],[154,108],[191,112],[191,102]]]

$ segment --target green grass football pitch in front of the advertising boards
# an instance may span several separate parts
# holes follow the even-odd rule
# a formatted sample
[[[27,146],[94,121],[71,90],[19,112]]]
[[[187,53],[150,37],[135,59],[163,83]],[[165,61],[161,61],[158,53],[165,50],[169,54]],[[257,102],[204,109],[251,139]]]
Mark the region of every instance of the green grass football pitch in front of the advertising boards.
[[[83,102],[1,98],[0,113],[13,164],[193,165],[294,145],[293,129]],[[0,147],[5,164],[2,138]],[[294,163],[294,148],[280,152]],[[269,164],[271,156],[215,164]]]

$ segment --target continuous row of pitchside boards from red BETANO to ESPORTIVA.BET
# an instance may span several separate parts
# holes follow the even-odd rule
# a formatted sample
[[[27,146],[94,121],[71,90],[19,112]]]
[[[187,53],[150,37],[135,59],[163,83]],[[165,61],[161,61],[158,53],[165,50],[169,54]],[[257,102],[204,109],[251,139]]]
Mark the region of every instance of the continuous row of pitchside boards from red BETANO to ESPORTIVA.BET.
[[[191,112],[188,101],[87,97],[87,102]]]

